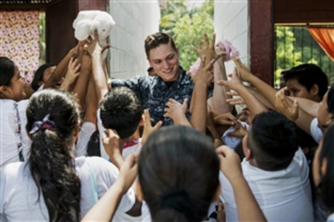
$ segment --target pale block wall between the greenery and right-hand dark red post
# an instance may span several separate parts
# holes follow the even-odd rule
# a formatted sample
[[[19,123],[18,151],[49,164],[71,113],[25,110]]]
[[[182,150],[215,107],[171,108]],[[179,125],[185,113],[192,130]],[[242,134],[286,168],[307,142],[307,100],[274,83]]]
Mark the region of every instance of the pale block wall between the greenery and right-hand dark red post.
[[[240,52],[241,61],[248,64],[248,4],[247,0],[214,1],[214,31],[216,39],[229,40]],[[232,61],[225,63],[231,73]]]

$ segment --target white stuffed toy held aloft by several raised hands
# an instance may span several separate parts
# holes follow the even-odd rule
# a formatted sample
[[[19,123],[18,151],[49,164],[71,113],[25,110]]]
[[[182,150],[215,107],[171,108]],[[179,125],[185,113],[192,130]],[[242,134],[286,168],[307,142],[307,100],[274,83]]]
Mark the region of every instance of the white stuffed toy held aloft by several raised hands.
[[[98,30],[99,41],[102,46],[107,44],[107,37],[115,25],[113,17],[103,11],[80,11],[73,21],[74,36],[77,40],[83,41],[89,36],[94,38],[94,30]],[[103,53],[102,59],[107,56],[107,50]]]

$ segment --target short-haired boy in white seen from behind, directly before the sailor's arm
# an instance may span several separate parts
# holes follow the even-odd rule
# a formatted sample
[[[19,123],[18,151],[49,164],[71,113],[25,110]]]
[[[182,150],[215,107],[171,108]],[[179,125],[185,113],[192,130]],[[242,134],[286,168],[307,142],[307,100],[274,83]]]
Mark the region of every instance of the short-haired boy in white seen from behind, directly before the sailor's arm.
[[[125,159],[131,153],[139,153],[142,143],[139,126],[144,123],[142,108],[136,94],[127,87],[112,88],[103,98],[98,113],[100,137],[105,129],[113,129],[121,139],[121,154]],[[113,159],[101,144],[101,156],[111,158],[119,168],[123,160]]]

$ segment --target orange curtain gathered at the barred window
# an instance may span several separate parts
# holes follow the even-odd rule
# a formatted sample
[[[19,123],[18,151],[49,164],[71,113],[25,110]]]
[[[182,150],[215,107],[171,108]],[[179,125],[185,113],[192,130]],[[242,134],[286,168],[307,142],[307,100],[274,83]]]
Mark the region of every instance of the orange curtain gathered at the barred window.
[[[334,28],[308,28],[312,37],[334,61]]]

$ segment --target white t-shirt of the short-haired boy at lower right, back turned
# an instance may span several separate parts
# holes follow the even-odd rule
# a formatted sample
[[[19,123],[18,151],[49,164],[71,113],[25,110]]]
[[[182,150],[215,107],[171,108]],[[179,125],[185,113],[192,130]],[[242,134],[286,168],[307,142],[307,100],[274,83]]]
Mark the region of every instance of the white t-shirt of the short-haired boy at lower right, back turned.
[[[306,157],[299,149],[284,170],[265,171],[243,159],[242,173],[268,221],[313,221],[313,206]],[[238,221],[233,189],[220,173],[226,221]]]

